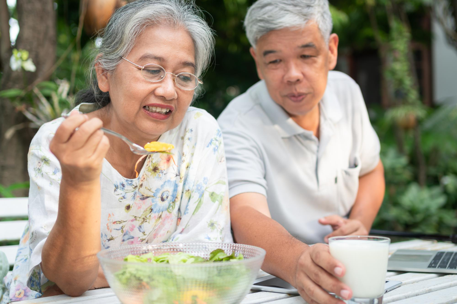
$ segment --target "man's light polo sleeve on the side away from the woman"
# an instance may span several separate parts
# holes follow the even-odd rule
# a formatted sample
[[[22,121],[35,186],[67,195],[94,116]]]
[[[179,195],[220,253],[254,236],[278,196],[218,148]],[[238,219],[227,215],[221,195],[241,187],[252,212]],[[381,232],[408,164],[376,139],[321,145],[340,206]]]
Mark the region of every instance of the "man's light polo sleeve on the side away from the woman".
[[[379,163],[381,144],[379,143],[376,131],[370,123],[367,106],[363,99],[360,87],[357,84],[355,85],[355,133],[358,133],[358,136],[360,137],[359,157],[361,169],[359,175],[362,176],[372,171]]]

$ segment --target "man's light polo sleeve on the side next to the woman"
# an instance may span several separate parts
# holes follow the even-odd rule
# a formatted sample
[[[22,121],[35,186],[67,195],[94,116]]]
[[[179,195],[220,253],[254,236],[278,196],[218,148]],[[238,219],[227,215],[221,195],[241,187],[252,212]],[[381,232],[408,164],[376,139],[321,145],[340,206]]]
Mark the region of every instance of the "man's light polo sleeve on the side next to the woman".
[[[255,192],[266,197],[265,162],[260,145],[237,129],[223,129],[229,196]]]

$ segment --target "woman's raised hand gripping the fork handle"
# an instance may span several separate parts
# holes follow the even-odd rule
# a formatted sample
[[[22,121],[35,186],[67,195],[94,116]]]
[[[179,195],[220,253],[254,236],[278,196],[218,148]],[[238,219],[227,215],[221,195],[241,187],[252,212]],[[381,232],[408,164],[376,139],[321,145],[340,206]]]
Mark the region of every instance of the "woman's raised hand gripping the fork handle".
[[[101,166],[110,142],[98,118],[72,112],[58,127],[49,149],[62,168],[62,179],[86,184],[100,179]]]

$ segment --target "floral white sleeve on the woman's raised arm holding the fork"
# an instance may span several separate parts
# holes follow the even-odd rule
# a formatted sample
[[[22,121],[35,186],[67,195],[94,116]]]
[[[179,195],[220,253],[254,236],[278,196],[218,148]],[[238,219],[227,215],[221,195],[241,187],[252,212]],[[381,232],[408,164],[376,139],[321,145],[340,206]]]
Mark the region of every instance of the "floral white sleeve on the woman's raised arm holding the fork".
[[[28,285],[40,287],[48,282],[41,268],[41,253],[48,234],[57,219],[58,197],[62,173],[57,158],[49,150],[49,143],[57,129],[57,121],[45,124],[32,139],[28,153],[30,192],[29,216],[29,280]],[[56,126],[57,125],[57,126]],[[41,291],[41,290],[40,290]]]

